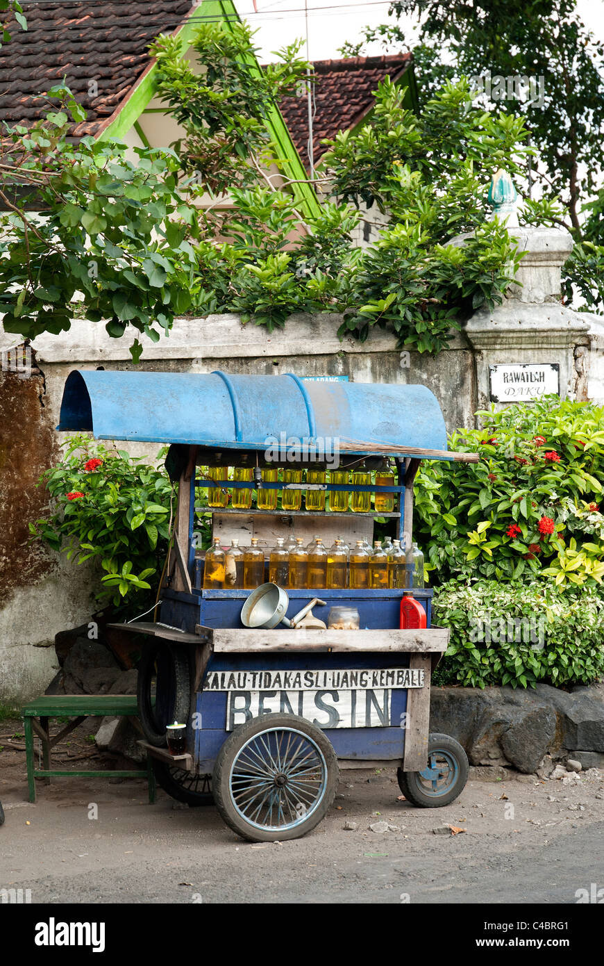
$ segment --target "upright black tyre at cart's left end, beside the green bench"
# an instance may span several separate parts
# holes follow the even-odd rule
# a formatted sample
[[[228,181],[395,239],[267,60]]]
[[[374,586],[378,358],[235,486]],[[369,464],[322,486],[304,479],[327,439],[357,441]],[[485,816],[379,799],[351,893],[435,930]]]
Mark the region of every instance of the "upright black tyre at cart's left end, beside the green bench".
[[[155,706],[151,703],[151,681],[158,681]],[[188,724],[191,705],[189,657],[180,646],[153,641],[145,646],[138,666],[138,715],[145,737],[155,748],[166,747],[166,725]]]

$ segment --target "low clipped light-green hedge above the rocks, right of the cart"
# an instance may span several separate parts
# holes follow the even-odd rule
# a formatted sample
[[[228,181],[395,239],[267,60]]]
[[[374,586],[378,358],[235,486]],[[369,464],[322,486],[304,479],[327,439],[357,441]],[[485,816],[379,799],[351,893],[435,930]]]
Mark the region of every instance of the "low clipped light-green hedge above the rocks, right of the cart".
[[[594,588],[544,580],[450,581],[434,593],[451,640],[435,684],[588,684],[604,673],[604,600]]]

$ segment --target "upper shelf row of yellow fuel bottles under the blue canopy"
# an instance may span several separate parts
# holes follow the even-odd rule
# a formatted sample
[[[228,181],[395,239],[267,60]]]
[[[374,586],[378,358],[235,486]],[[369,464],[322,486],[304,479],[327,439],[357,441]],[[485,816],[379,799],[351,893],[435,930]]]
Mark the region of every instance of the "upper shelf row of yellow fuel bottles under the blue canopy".
[[[350,478],[352,476],[352,478]],[[209,467],[206,473],[207,479],[216,483],[221,483],[220,487],[208,487],[207,505],[212,509],[221,509],[229,502],[229,467]],[[261,478],[264,483],[277,483],[279,481],[278,469],[262,469]],[[247,467],[234,467],[233,482],[251,483],[254,479],[254,470]],[[383,468],[375,471],[376,486],[394,486],[396,480],[395,470],[390,460],[384,460]],[[321,485],[327,482],[327,471],[325,469],[307,469],[306,483],[309,485]],[[332,469],[329,473],[329,482],[338,486],[371,486],[371,471],[365,469],[364,465],[354,469],[350,474],[347,469]],[[284,469],[284,485],[302,483],[302,469]],[[234,510],[249,510],[252,506],[252,489],[233,487],[233,497],[231,505]],[[257,491],[257,506],[259,510],[276,510],[278,489],[263,489]],[[307,510],[322,512],[325,510],[325,490],[307,490],[305,493],[305,506]],[[329,509],[335,513],[343,513],[351,507],[354,513],[371,512],[371,493],[369,491],[350,491],[334,490],[329,494]],[[392,513],[395,508],[395,494],[375,494],[374,509],[376,513]],[[300,510],[302,507],[302,490],[282,490],[281,506],[284,510]]]

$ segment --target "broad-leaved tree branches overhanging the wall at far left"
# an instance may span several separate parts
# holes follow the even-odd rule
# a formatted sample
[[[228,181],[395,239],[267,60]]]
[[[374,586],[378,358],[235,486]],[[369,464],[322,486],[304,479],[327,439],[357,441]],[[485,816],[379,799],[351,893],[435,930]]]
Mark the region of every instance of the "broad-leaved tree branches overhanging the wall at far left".
[[[194,210],[178,194],[173,152],[84,137],[66,139],[86,115],[69,90],[59,109],[5,133],[0,198],[0,312],[7,332],[35,337],[70,327],[78,299],[110,335],[131,326],[153,341],[191,305]],[[30,209],[37,211],[30,211]],[[140,355],[138,339],[132,347]]]

